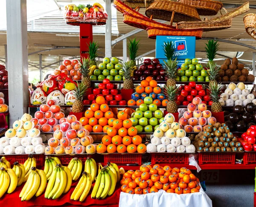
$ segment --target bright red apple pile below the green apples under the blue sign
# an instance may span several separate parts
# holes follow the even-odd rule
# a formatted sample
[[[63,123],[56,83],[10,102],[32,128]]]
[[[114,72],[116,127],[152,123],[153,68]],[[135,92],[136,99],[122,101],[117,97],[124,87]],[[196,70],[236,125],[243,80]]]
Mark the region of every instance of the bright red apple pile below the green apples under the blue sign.
[[[187,106],[192,102],[193,98],[199,97],[202,103],[206,105],[212,105],[211,96],[209,90],[204,89],[202,85],[195,82],[189,82],[188,85],[180,85],[180,91],[177,95],[177,105]]]

